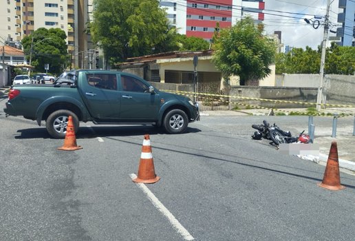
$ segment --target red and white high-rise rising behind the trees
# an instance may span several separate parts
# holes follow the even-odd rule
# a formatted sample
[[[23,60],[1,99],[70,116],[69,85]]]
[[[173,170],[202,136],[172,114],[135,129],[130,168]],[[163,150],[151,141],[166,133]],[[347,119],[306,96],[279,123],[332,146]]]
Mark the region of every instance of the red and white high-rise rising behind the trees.
[[[265,3],[262,0],[161,0],[167,17],[180,34],[211,41],[217,22],[228,28],[246,15],[263,21]]]

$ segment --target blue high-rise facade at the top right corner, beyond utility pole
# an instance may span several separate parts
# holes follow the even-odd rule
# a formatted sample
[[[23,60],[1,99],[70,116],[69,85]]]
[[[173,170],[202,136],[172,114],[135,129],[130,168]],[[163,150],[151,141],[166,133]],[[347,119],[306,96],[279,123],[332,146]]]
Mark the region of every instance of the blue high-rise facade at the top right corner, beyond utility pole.
[[[343,12],[338,14],[338,23],[341,23],[341,27],[336,30],[336,36],[341,37],[338,44],[355,46],[355,1],[339,0],[339,9],[342,9]]]

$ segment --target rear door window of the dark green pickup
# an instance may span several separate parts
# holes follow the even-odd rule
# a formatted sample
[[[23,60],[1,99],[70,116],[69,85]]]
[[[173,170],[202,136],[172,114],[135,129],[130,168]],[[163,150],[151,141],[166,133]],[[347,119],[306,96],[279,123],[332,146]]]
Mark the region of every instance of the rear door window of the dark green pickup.
[[[92,87],[117,90],[116,74],[87,74],[87,83]]]

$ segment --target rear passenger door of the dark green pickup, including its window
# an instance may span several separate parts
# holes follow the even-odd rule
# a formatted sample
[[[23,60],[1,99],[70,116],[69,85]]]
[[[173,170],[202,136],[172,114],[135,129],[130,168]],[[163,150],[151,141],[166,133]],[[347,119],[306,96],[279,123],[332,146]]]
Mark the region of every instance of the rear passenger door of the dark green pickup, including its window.
[[[117,75],[114,73],[86,73],[86,81],[80,88],[85,105],[97,119],[114,121],[120,114],[120,94],[117,91]]]

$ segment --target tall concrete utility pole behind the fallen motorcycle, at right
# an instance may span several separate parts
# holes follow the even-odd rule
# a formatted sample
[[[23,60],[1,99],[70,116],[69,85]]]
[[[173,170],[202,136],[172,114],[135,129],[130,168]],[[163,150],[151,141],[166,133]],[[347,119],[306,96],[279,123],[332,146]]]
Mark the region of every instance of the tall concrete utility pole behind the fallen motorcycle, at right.
[[[327,0],[327,12],[325,14],[324,21],[324,32],[323,32],[323,42],[322,42],[322,55],[321,55],[321,68],[319,70],[320,81],[318,87],[318,93],[316,96],[316,110],[321,110],[321,103],[323,98],[323,78],[324,78],[324,64],[325,64],[325,48],[327,47],[328,30],[329,30],[329,11],[330,11],[330,0]]]

